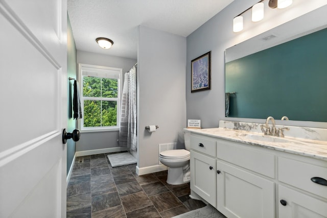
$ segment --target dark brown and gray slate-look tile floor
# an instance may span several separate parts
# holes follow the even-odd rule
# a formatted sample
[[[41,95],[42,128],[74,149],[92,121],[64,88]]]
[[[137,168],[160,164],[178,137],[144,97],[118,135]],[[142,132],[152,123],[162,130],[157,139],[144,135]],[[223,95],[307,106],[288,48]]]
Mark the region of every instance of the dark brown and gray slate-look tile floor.
[[[76,158],[67,186],[67,217],[172,217],[204,207],[190,183],[166,183],[167,171],[137,176],[136,164],[112,167],[107,154]]]

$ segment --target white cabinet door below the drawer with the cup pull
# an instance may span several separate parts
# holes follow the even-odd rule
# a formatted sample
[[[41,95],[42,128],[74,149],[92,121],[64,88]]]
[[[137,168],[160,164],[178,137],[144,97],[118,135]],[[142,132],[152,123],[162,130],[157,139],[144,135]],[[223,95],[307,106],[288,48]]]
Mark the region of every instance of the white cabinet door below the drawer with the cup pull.
[[[281,204],[283,200],[283,204]],[[323,218],[327,217],[327,202],[320,201],[304,193],[278,186],[279,218]]]

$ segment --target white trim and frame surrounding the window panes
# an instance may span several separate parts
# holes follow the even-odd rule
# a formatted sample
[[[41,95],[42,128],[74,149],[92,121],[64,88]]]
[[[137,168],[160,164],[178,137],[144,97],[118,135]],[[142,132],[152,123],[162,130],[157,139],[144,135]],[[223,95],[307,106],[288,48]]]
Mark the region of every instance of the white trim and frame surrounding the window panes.
[[[88,70],[93,72],[98,72],[99,74],[117,74],[119,73],[118,79],[118,98],[117,98],[117,126],[115,127],[88,127],[85,128],[82,126],[83,120],[84,120],[84,113],[83,113],[83,120],[77,119],[78,129],[81,132],[106,132],[106,131],[119,131],[119,125],[120,125],[120,107],[121,107],[121,95],[122,95],[122,89],[123,89],[123,69],[122,68],[115,68],[115,67],[106,67],[106,66],[98,66],[98,65],[90,65],[90,64],[78,64],[78,84],[80,89],[80,95],[81,98],[83,98],[83,84],[82,84],[82,71]],[[81,99],[82,100],[82,99]],[[106,100],[110,100],[109,98],[106,98]],[[81,107],[84,111],[84,101],[81,101]]]

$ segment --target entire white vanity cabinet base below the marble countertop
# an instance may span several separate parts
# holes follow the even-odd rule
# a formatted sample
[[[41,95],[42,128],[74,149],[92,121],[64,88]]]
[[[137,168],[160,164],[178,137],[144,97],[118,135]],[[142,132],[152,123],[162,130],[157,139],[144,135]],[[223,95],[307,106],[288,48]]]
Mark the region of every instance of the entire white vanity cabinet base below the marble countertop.
[[[191,133],[191,189],[228,218],[327,217],[315,177],[326,161]]]

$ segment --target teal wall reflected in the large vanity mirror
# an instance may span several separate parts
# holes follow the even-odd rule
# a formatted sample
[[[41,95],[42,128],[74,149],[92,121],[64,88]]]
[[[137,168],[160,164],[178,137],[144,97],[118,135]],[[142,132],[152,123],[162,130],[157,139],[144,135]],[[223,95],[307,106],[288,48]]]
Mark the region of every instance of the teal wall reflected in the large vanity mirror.
[[[327,29],[225,67],[229,117],[327,122]]]

